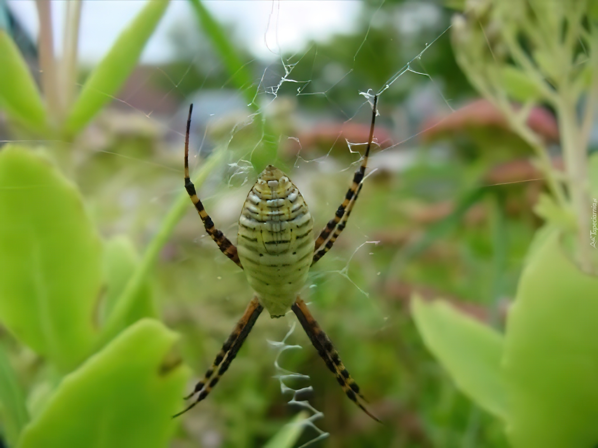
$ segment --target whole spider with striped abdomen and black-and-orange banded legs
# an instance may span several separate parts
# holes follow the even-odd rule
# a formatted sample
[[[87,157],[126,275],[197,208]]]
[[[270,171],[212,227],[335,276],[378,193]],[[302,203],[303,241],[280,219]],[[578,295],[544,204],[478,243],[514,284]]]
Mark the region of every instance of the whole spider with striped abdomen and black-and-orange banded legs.
[[[360,400],[366,400],[359,391],[359,386],[351,378],[331,340],[299,296],[299,291],[307,281],[307,272],[337,240],[361,191],[374,136],[377,102],[378,97],[374,96],[370,137],[361,165],[355,171],[353,182],[344,201],[338,207],[334,219],[331,219],[322,229],[315,244],[312,237],[313,218],[303,196],[288,176],[273,165],[268,165],[249,191],[243,205],[239,217],[237,246],[216,229],[203,208],[202,201],[197,197],[195,186],[189,177],[189,129],[193,104],[190,106],[185,134],[185,189],[203,221],[206,232],[222,253],[245,271],[255,296],[222,345],[222,349],[216,355],[202,381],[197,383],[193,392],[185,397],[185,400],[188,400],[197,394],[196,400],[175,417],[187,412],[208,396],[236,357],[264,308],[273,318],[282,317],[290,308],[297,315],[313,346],[328,369],[334,373],[347,397],[368,416],[380,422],[361,403]]]

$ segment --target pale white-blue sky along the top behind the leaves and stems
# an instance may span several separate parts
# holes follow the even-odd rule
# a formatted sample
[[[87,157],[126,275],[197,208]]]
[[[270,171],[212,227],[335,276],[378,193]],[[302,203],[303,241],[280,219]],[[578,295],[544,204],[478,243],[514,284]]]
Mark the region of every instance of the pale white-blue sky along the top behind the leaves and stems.
[[[144,7],[146,0],[84,0],[81,11],[79,57],[93,64],[111,47],[118,33]],[[60,53],[65,0],[52,0],[54,45]],[[266,61],[277,53],[299,51],[310,39],[325,41],[336,33],[350,33],[358,22],[362,4],[356,0],[227,0],[204,1],[221,23],[230,24],[255,57]],[[34,0],[8,0],[8,7],[36,38],[38,17]],[[149,39],[141,62],[172,60],[169,32],[194,17],[187,0],[171,0],[166,14]]]

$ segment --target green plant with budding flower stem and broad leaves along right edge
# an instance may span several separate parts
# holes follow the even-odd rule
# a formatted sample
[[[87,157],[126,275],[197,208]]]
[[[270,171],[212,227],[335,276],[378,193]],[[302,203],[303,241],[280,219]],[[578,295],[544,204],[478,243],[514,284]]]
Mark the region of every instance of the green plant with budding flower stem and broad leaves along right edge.
[[[413,310],[426,345],[463,391],[504,419],[514,447],[598,441],[598,394],[588,381],[598,372],[598,172],[588,151],[598,99],[593,12],[585,1],[489,0],[453,19],[459,65],[535,153],[550,190],[535,211],[547,223],[530,246],[504,337],[489,337],[491,329],[444,303],[417,301]],[[533,125],[541,103],[556,112],[565,173]],[[467,333],[477,344],[463,356]]]

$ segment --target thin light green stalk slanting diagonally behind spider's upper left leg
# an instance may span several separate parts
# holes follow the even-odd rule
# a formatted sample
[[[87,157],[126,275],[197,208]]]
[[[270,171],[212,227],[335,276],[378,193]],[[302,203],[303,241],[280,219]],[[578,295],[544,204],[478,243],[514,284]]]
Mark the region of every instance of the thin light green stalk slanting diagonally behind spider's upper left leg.
[[[226,148],[224,146],[216,149],[202,168],[200,168],[199,173],[193,180],[197,189],[203,185],[208,176],[216,167],[218,167],[224,158],[225,152]],[[181,177],[181,185],[182,183]],[[136,297],[139,297],[139,290],[144,287],[144,282],[154,268],[162,247],[169,240],[176,224],[181,220],[184,214],[187,213],[188,208],[190,208],[189,196],[186,191],[181,191],[176,198],[175,203],[161,222],[158,232],[149,242],[141,263],[139,263],[138,268],[129,279],[123,293],[115,303],[114,309],[112,309],[112,312],[102,329],[102,334],[99,338],[99,346],[97,348],[103,346],[123,329],[126,316],[129,314],[130,309],[135,306],[135,299]]]

